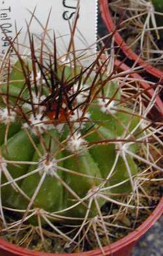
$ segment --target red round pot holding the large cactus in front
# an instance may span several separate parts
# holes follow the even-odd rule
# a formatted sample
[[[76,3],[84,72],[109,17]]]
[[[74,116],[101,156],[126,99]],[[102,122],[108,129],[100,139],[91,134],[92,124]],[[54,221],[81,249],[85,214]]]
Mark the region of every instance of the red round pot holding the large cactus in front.
[[[120,61],[115,61],[115,67],[120,71],[126,71],[129,69],[124,63]],[[141,79],[141,76],[136,73],[130,74],[131,77],[136,79]],[[140,83],[143,88],[149,88],[149,85],[145,82]],[[153,89],[147,91],[149,95],[153,95]],[[163,116],[163,103],[159,97],[156,98],[156,108],[160,112],[160,116]],[[106,256],[129,256],[132,249],[138,242],[145,232],[147,232],[153,224],[157,221],[157,219],[163,214],[163,198],[160,199],[159,204],[156,206],[153,213],[138,227],[135,231],[130,232],[130,234],[126,235],[124,238],[121,238],[117,242],[109,246],[104,247]],[[0,239],[0,256],[102,256],[102,252],[100,249],[95,249],[92,251],[81,252],[81,253],[42,253],[40,251],[30,251],[28,249],[21,248],[19,246],[15,246],[14,244],[10,244],[9,242]]]

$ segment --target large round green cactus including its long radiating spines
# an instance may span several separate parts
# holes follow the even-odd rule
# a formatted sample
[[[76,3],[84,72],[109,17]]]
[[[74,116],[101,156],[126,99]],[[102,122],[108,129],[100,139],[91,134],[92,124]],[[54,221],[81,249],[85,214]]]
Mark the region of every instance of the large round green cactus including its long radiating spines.
[[[109,71],[105,48],[85,67],[75,50],[58,56],[55,40],[53,52],[36,49],[30,33],[29,41],[29,54],[12,43],[17,61],[8,51],[1,62],[2,230],[17,229],[14,241],[23,246],[36,232],[44,248],[57,235],[65,251],[81,249],[93,232],[102,249],[110,227],[127,229],[114,224],[117,216],[138,214],[139,189],[146,195],[143,184],[162,170],[151,155],[160,123],[147,117],[158,89],[148,101],[128,71]]]

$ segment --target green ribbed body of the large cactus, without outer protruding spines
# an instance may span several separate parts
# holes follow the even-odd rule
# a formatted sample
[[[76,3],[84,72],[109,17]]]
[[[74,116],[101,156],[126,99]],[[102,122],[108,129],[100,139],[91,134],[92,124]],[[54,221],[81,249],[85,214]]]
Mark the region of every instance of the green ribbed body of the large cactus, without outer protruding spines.
[[[100,187],[133,189],[138,167],[123,155],[123,136],[135,139],[138,117],[121,106],[118,80],[64,63],[31,66],[17,61],[0,88],[3,205],[27,209],[24,217],[33,208],[63,221],[96,216],[106,202]],[[128,148],[136,153],[138,145]]]

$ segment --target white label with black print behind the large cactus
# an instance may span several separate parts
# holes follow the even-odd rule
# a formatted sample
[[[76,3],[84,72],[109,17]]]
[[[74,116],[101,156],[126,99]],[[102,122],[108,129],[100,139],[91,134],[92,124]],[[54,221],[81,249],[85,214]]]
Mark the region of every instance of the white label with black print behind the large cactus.
[[[27,24],[30,24],[30,31],[39,42],[43,32],[42,26],[46,27],[49,15],[48,33],[52,39],[55,31],[57,48],[64,54],[70,40],[70,24],[72,25],[78,4],[80,10],[74,37],[76,50],[91,46],[91,50],[95,52],[97,2],[97,0],[0,0],[1,56],[7,52],[10,45],[8,39],[13,41],[16,37],[16,31],[20,31],[18,36],[20,48],[23,48],[23,51],[25,48],[27,50]],[[50,37],[46,35],[48,44]]]

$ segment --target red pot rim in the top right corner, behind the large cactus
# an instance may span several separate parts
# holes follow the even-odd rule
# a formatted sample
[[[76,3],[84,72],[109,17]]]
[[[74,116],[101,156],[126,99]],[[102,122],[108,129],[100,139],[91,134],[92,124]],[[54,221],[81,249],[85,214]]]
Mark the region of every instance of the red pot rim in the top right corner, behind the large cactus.
[[[115,31],[115,24],[110,13],[109,2],[109,0],[99,0],[102,19],[104,20],[108,31],[112,32]],[[163,72],[159,69],[156,69],[152,65],[145,63],[145,61],[143,61],[140,56],[135,54],[130,46],[125,43],[125,41],[118,32],[115,32],[115,42],[121,47],[121,50],[123,50],[123,52],[129,59],[131,59],[132,61],[137,61],[139,65],[141,65],[147,72],[149,72],[153,76],[160,78],[160,80],[163,79]]]

